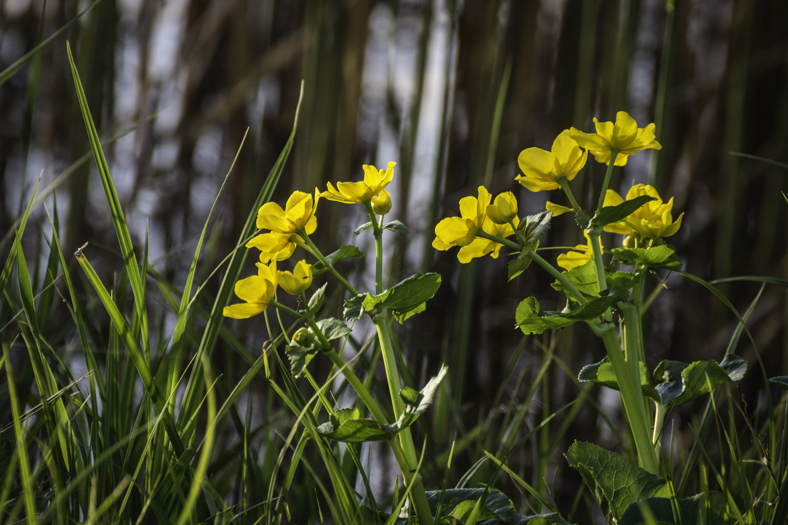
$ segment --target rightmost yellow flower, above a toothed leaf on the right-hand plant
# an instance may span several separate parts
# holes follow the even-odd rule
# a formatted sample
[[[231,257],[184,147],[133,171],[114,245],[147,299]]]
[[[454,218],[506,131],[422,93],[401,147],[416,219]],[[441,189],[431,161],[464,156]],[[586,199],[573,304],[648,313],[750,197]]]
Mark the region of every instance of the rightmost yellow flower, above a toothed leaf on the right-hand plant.
[[[678,216],[678,219],[673,220],[671,210],[673,209],[673,198],[663,204],[660,194],[656,192],[654,187],[647,184],[635,184],[626,192],[626,200],[630,201],[641,195],[649,195],[656,198],[656,201],[646,202],[640,208],[634,211],[630,216],[626,217],[622,223],[608,224],[604,227],[604,231],[612,231],[613,233],[629,234],[634,231],[643,237],[657,238],[657,237],[670,237],[678,231],[682,226],[682,217],[684,213]],[[604,195],[605,206],[619,205],[624,201],[621,195],[613,190],[608,190]]]

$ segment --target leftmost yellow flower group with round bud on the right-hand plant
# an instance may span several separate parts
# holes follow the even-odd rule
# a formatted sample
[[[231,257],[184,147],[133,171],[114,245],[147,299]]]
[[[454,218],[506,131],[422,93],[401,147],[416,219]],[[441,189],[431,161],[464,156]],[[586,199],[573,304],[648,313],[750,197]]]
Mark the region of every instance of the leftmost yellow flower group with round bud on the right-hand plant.
[[[457,259],[461,263],[470,262],[474,257],[484,257],[488,253],[492,253],[493,258],[498,257],[501,246],[504,245],[479,237],[480,231],[507,238],[515,235],[515,227],[519,224],[517,199],[511,191],[499,194],[492,204],[492,195],[484,186],[478,187],[478,194],[478,198],[461,198],[460,216],[441,220],[435,227],[433,248],[448,250],[453,246],[461,246],[457,253]]]

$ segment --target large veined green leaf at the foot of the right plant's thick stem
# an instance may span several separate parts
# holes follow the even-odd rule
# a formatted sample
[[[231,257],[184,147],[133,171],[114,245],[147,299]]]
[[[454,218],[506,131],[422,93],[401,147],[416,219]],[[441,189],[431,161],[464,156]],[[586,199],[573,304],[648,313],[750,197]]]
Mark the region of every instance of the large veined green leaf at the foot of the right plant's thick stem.
[[[627,507],[645,497],[670,497],[664,479],[600,446],[575,441],[564,456],[580,472],[606,518],[621,519]]]

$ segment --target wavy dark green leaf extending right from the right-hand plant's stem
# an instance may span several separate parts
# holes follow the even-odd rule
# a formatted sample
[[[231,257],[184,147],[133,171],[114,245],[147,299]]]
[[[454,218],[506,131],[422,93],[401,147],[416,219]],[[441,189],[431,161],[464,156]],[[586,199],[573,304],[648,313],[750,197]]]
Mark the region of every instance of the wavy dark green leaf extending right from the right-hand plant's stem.
[[[708,394],[728,381],[742,379],[746,370],[747,361],[734,354],[728,354],[720,364],[715,360],[691,364],[663,360],[654,370],[654,383],[662,404],[675,406]]]

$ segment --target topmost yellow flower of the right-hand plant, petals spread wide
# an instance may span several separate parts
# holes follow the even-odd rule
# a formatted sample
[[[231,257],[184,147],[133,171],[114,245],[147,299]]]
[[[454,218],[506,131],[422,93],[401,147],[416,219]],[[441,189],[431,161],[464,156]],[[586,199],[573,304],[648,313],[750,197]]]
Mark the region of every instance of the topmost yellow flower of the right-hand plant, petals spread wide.
[[[596,133],[583,133],[574,128],[570,129],[570,133],[581,147],[593,153],[597,162],[609,165],[613,148],[619,149],[619,155],[615,157],[616,166],[626,165],[626,158],[637,151],[662,149],[660,142],[654,138],[654,124],[638,128],[634,118],[625,111],[616,113],[615,124],[600,122],[596,118],[593,121],[597,127]]]

